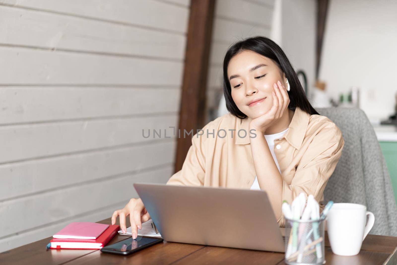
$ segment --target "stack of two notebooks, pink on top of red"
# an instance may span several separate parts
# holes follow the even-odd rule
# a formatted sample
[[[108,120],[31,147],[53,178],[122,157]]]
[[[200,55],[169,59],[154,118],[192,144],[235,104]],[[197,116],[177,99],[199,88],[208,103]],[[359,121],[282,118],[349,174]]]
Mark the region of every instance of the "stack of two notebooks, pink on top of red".
[[[50,248],[101,249],[116,235],[120,226],[95,222],[72,222],[54,234]]]

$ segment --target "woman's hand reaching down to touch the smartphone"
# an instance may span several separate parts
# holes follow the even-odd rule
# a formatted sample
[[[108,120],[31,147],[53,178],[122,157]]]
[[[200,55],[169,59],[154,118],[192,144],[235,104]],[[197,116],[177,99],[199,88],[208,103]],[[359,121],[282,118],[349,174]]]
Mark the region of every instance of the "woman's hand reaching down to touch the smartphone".
[[[125,226],[125,218],[129,215],[129,221],[131,222],[132,238],[137,238],[138,229],[142,229],[142,223],[150,220],[150,215],[143,205],[141,198],[132,198],[129,200],[127,205],[123,209],[114,211],[112,215],[112,224],[116,224],[116,218],[120,217],[120,228],[123,233],[127,233],[127,227]]]

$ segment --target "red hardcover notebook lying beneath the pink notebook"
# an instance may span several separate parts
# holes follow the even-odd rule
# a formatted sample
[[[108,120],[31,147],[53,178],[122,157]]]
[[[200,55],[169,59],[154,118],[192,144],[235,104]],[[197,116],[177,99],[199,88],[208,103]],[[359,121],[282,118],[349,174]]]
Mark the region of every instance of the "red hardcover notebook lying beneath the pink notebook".
[[[66,239],[66,238],[54,238],[51,242],[50,248],[62,249],[90,249],[99,250],[106,246],[108,242],[116,235],[120,229],[119,225],[110,225],[98,238],[96,239]]]

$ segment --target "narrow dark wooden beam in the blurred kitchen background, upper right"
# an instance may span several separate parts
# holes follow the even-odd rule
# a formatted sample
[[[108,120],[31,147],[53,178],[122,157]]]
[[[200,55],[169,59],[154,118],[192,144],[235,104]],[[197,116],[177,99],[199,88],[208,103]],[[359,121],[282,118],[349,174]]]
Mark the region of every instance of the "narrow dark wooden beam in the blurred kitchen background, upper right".
[[[320,70],[321,50],[324,39],[328,4],[328,0],[317,0],[316,80],[318,79],[318,71]]]

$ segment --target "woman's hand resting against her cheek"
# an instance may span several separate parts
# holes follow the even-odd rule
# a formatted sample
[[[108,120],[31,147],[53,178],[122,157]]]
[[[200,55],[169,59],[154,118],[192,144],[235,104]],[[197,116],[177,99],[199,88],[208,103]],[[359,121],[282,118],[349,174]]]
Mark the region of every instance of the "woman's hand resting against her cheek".
[[[251,120],[249,128],[256,130],[256,132],[264,133],[269,126],[274,124],[279,118],[281,118],[285,112],[285,109],[289,104],[289,97],[287,89],[277,81],[277,84],[273,85],[273,106],[268,112]]]

